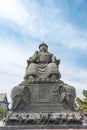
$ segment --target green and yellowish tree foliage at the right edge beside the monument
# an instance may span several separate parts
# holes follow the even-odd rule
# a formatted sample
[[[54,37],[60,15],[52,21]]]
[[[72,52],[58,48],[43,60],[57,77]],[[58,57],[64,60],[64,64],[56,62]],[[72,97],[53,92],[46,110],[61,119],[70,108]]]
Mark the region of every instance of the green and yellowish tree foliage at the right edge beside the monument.
[[[76,98],[77,111],[87,112],[87,90],[83,90],[82,94],[84,96],[83,99]]]

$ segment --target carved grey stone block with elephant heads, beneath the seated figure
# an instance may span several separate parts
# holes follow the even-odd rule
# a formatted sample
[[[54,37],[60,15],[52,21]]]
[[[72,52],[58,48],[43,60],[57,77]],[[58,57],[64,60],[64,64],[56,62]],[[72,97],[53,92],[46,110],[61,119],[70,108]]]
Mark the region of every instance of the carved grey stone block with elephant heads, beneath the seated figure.
[[[72,100],[74,91],[73,87],[63,83],[61,80],[23,82],[13,88],[15,95],[13,100],[14,111],[22,113],[72,112],[74,109]],[[67,93],[69,94],[67,95]],[[24,100],[27,103],[24,103]],[[72,102],[70,103],[71,100]]]

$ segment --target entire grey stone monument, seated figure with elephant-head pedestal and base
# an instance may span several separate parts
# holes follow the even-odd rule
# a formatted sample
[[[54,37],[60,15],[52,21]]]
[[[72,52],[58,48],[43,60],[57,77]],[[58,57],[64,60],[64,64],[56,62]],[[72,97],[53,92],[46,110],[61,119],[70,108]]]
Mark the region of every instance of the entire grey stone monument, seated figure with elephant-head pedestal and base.
[[[74,113],[75,88],[60,80],[59,64],[48,46],[40,44],[39,51],[27,60],[24,80],[12,89],[7,125],[81,124]]]

